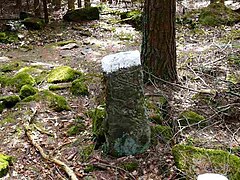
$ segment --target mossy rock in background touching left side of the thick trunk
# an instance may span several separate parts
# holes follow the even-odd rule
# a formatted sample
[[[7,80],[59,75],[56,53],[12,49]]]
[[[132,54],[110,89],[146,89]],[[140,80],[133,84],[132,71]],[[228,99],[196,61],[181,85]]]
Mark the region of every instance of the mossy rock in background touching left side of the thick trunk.
[[[139,10],[132,10],[127,12],[122,12],[120,14],[122,22],[131,24],[137,30],[142,30],[143,28],[143,15]]]

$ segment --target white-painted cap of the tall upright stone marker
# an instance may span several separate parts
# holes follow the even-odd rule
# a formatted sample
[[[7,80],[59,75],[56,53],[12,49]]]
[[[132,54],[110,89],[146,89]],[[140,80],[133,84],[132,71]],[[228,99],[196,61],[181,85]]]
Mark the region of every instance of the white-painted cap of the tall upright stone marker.
[[[139,65],[141,65],[141,60],[138,50],[110,54],[102,59],[102,69],[106,73]]]

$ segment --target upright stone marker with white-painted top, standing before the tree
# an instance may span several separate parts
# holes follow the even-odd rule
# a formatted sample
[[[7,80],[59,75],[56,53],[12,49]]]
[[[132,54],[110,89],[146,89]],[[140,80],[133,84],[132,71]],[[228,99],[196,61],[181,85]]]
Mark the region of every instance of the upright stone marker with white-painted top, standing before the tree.
[[[144,106],[140,53],[127,51],[105,56],[102,69],[107,152],[117,157],[142,153],[150,145],[150,127]]]

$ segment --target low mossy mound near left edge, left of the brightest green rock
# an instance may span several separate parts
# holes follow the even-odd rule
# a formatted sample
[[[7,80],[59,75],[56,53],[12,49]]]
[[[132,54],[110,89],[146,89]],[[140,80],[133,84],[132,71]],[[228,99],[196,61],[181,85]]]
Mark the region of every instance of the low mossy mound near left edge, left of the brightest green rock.
[[[34,84],[35,79],[25,72],[17,73],[9,82],[7,82],[7,85],[15,87],[17,91],[19,91],[24,85],[34,86]]]

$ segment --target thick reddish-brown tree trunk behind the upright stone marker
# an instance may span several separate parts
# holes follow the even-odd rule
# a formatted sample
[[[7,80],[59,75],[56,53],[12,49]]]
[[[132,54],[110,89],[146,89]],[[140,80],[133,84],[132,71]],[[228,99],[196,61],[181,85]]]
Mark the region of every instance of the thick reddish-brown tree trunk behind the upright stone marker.
[[[141,60],[146,81],[151,74],[177,81],[176,0],[145,0]]]

